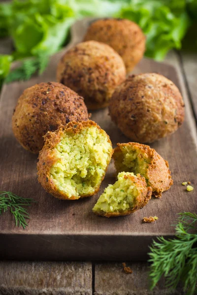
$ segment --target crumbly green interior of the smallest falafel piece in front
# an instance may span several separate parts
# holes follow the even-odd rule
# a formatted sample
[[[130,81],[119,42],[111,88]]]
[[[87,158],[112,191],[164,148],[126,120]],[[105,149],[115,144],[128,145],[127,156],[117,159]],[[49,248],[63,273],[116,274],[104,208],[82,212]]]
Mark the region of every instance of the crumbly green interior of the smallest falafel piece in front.
[[[93,207],[93,212],[99,215],[105,213],[122,213],[131,210],[136,205],[136,197],[143,189],[133,181],[134,174],[121,172],[114,184],[109,184]],[[137,177],[135,177],[137,179]],[[107,216],[109,217],[109,216]]]

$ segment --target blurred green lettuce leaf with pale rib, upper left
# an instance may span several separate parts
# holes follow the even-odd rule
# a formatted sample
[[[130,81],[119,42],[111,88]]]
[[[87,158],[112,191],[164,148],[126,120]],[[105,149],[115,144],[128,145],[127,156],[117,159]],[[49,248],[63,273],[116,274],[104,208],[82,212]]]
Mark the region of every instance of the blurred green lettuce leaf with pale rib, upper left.
[[[57,52],[65,42],[68,29],[74,21],[73,10],[57,0],[48,1],[51,5],[46,0],[32,0],[33,4],[30,5],[30,0],[27,0],[26,8],[20,8],[20,1],[14,2],[13,11],[20,10],[13,17],[10,26],[16,49],[15,58],[37,56],[43,52],[52,55]],[[25,15],[25,12],[28,13]]]

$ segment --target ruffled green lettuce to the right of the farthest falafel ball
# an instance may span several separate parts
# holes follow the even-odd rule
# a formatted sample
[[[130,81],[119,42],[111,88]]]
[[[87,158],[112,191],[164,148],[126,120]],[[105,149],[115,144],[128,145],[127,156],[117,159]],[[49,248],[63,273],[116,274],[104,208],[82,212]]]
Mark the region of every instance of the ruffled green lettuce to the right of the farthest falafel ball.
[[[173,13],[174,1],[131,1],[118,15],[137,23],[146,35],[145,55],[156,60],[163,60],[166,53],[172,49],[181,48],[190,19],[185,12],[185,1],[180,1],[176,14]],[[171,10],[170,10],[171,4]]]

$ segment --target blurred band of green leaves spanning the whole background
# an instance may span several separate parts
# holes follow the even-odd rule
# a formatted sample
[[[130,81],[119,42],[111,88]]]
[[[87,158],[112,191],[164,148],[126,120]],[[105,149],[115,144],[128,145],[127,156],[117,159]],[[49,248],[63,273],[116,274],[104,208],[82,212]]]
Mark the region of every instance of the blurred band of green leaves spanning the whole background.
[[[42,73],[68,42],[73,22],[87,16],[134,21],[147,38],[145,55],[156,60],[172,48],[197,51],[197,0],[12,0],[0,3],[0,38],[10,36],[14,48],[0,55],[0,84],[15,59],[34,57],[7,82]]]

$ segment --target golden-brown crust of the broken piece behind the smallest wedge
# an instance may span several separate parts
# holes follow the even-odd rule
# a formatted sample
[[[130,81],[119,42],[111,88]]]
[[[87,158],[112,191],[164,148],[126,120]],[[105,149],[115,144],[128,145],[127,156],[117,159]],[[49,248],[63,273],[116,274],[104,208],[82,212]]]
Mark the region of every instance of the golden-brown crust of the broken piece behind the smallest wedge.
[[[123,162],[124,157],[123,150],[121,149],[122,147],[131,148],[131,150],[140,150],[144,155],[142,157],[151,160],[147,170],[149,185],[152,187],[153,195],[157,198],[161,197],[162,192],[168,190],[173,184],[168,162],[165,161],[154,148],[150,148],[149,146],[138,143],[117,144],[117,148],[114,149],[113,154],[117,173],[121,172],[119,170],[119,161]]]

